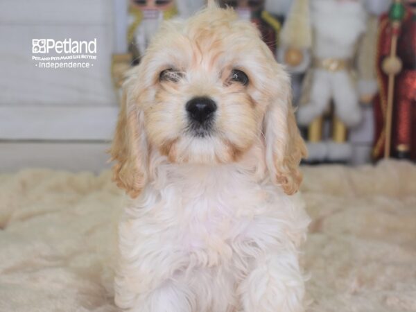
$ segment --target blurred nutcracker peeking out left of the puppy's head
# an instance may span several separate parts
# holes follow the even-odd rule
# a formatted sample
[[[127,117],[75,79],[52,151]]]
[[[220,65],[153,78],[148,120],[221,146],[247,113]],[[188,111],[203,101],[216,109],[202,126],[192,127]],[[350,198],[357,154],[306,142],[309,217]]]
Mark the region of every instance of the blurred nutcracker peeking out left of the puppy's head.
[[[134,63],[137,63],[161,22],[177,15],[177,10],[173,0],[130,0],[130,15],[127,37]]]

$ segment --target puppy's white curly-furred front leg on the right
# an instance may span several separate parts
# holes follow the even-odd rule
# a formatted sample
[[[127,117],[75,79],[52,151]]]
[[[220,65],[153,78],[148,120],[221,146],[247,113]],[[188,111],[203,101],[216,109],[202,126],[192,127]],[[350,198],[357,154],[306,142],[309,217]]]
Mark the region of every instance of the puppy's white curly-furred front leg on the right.
[[[239,286],[245,312],[302,312],[304,279],[295,251],[264,254]]]

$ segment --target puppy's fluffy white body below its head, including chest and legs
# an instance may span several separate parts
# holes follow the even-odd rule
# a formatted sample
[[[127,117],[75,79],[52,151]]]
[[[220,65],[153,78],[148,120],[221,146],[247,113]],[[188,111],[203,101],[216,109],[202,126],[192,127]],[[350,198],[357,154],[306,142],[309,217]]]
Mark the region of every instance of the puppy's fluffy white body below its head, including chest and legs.
[[[241,169],[159,168],[120,226],[116,304],[149,312],[303,311],[303,204]]]

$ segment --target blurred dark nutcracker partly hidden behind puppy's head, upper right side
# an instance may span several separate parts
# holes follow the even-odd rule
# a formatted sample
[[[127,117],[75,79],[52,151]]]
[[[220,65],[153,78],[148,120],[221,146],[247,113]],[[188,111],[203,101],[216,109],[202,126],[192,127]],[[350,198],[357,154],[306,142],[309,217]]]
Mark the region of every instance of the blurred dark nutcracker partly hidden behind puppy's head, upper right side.
[[[281,24],[279,19],[264,10],[265,0],[220,0],[219,3],[222,7],[234,8],[241,19],[256,24],[264,42],[273,54],[276,53]]]

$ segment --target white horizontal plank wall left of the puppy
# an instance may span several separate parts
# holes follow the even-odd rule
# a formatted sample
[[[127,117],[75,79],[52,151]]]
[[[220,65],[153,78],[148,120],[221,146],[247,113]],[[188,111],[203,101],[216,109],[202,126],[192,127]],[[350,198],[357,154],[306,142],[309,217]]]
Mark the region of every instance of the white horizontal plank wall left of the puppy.
[[[112,1],[0,1],[0,173],[106,166],[118,111],[110,77]],[[36,67],[32,39],[69,37],[97,38],[93,67]]]

